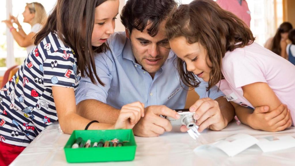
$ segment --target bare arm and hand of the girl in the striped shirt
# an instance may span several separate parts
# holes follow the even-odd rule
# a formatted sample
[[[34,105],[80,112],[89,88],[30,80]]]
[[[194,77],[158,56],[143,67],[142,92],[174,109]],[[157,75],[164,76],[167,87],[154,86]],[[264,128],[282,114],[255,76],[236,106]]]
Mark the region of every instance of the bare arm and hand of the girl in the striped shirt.
[[[71,134],[74,130],[84,130],[90,120],[76,113],[74,89],[53,86],[52,92],[58,121],[62,131],[65,134]],[[131,103],[122,107],[119,118],[114,125],[108,123],[92,123],[88,129],[133,128],[137,121],[140,120],[140,117],[143,116],[143,111],[144,106],[142,103]]]

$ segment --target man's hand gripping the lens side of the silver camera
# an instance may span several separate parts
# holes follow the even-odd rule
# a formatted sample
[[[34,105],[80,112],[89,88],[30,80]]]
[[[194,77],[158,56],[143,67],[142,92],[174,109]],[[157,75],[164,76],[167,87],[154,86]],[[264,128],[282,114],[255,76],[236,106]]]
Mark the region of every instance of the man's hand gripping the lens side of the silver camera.
[[[196,119],[196,125],[199,126],[199,132],[202,132],[205,128],[218,131],[227,126],[228,122],[223,118],[216,100],[208,97],[197,100],[189,108],[189,111],[195,112],[194,119]],[[183,125],[180,130],[185,132],[189,129]]]

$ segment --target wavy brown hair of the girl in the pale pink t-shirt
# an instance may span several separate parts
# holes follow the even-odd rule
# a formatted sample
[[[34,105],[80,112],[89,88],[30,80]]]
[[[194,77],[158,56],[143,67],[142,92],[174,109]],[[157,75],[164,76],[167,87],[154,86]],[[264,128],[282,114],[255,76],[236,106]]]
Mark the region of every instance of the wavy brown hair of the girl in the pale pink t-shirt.
[[[188,43],[199,42],[207,50],[207,58],[212,62],[209,86],[224,79],[221,73],[222,58],[227,51],[250,45],[255,40],[248,26],[231,12],[219,7],[212,0],[195,0],[180,5],[168,17],[166,33],[169,40],[184,36]],[[181,80],[189,87],[198,87],[199,80],[187,71],[185,61],[177,59]]]

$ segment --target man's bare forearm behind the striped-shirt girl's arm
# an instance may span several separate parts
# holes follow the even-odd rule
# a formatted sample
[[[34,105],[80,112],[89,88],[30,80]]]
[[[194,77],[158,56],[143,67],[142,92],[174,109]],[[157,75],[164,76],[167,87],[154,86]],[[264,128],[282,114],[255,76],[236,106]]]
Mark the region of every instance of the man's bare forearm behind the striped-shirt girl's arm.
[[[83,100],[77,105],[77,113],[84,118],[96,120],[100,123],[114,124],[120,110],[98,100]]]

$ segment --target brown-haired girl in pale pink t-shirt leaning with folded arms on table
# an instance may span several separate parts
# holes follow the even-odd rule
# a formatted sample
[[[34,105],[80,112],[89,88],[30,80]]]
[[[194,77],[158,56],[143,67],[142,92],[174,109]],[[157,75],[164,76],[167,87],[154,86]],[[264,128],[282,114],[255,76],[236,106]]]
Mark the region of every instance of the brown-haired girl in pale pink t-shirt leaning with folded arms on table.
[[[179,6],[168,18],[166,29],[186,85],[197,87],[197,77],[209,82],[208,89],[217,85],[240,121],[254,129],[281,131],[291,126],[295,66],[255,43],[241,19],[214,1],[195,0]],[[287,109],[278,112],[281,104],[291,114]],[[269,112],[253,112],[260,106],[268,106]]]

